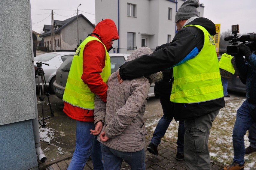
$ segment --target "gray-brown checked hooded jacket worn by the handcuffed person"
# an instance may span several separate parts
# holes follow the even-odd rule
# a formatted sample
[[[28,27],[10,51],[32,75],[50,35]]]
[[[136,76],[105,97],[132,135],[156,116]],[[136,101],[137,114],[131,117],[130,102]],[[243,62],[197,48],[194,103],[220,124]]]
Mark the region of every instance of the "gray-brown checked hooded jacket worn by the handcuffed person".
[[[129,56],[129,60],[139,57],[142,53],[152,53],[147,47],[136,49]],[[127,60],[127,61],[129,61]],[[119,69],[108,78],[107,103],[98,96],[95,98],[94,120],[105,120],[101,133],[110,138],[102,144],[123,152],[140,151],[145,146],[146,127],[143,115],[147,105],[150,82],[162,79],[162,73],[155,73],[146,77],[118,82]]]

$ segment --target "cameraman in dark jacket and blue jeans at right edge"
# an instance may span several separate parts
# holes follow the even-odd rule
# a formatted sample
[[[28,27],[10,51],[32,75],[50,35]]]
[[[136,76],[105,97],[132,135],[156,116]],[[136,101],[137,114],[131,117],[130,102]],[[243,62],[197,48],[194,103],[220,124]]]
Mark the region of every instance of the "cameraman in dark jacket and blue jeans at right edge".
[[[256,43],[254,42],[254,45]],[[224,170],[239,170],[244,168],[246,131],[256,122],[256,55],[245,44],[239,45],[239,54],[235,56],[236,69],[241,80],[246,80],[246,100],[236,112],[236,122],[233,128],[233,162]],[[255,52],[255,51],[254,51]],[[245,56],[246,61],[243,56]]]

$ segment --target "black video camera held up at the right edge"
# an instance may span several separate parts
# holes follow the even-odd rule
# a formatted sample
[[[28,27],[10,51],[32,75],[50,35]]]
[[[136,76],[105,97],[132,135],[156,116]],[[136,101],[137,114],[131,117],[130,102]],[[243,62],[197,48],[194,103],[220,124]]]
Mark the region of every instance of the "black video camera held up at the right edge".
[[[227,54],[229,55],[237,55],[239,53],[239,43],[242,42],[246,46],[249,47],[251,52],[256,50],[256,34],[255,33],[248,33],[241,35],[237,35],[239,33],[239,25],[231,25],[231,32],[234,36],[225,37],[225,41],[229,41],[232,45],[227,46]]]

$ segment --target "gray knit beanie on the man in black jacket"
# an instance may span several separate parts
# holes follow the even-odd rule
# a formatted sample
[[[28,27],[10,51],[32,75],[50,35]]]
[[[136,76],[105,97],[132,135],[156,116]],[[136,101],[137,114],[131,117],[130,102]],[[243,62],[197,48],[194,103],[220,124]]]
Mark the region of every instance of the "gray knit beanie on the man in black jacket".
[[[193,16],[198,16],[197,8],[199,7],[199,0],[187,0],[178,9],[175,15],[174,22],[178,22],[184,19],[190,19]]]

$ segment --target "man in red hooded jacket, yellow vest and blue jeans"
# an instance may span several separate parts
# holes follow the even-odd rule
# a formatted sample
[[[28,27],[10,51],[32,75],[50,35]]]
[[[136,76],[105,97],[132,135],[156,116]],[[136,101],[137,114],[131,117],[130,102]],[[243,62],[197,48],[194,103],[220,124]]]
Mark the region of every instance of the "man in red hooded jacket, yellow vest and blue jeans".
[[[95,129],[95,96],[106,102],[106,82],[111,74],[108,52],[113,48],[114,40],[118,39],[114,21],[104,19],[75,52],[63,94],[63,111],[77,121],[76,147],[68,170],[84,169],[90,156],[93,169],[103,169],[100,143],[96,136],[90,134],[90,130]]]

